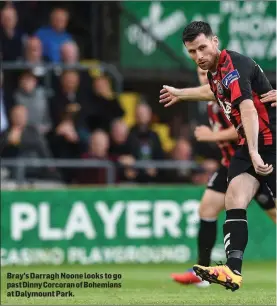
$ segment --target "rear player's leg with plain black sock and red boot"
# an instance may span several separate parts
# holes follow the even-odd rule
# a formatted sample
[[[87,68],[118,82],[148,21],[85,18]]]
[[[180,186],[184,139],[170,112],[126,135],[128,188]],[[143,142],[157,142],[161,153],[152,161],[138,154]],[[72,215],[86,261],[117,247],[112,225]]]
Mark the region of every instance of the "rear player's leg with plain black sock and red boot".
[[[227,168],[221,166],[215,172],[207,185],[207,189],[199,206],[200,224],[197,236],[198,264],[209,266],[212,249],[216,242],[217,217],[224,209],[224,197],[227,189]],[[171,277],[182,284],[195,284],[206,287],[207,282],[202,282],[192,269],[185,273],[173,273]]]

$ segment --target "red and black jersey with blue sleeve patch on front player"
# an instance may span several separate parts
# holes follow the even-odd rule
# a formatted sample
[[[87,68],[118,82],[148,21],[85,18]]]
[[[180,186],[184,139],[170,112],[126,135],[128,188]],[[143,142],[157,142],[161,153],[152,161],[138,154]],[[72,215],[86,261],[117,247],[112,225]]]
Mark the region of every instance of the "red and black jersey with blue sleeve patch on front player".
[[[217,71],[208,72],[208,79],[218,104],[237,129],[238,145],[246,144],[239,104],[250,99],[254,102],[259,118],[259,148],[275,146],[276,109],[271,107],[271,103],[263,104],[260,101],[260,96],[272,87],[260,66],[249,57],[223,50]]]

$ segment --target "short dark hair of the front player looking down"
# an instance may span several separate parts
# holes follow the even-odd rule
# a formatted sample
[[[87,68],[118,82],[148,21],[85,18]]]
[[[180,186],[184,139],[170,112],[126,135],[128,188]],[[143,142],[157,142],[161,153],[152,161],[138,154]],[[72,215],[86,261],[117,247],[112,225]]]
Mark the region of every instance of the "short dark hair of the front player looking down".
[[[211,26],[204,21],[193,21],[187,25],[183,31],[183,43],[186,41],[192,42],[195,38],[204,34],[205,36],[213,36],[213,31]]]

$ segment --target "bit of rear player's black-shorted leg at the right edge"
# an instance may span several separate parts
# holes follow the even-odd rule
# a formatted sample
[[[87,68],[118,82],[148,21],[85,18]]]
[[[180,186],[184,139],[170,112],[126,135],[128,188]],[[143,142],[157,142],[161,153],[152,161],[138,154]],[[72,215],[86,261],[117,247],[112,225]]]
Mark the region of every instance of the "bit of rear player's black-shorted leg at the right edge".
[[[276,223],[276,203],[264,184],[261,184],[257,194],[255,195],[255,200],[269,218]]]

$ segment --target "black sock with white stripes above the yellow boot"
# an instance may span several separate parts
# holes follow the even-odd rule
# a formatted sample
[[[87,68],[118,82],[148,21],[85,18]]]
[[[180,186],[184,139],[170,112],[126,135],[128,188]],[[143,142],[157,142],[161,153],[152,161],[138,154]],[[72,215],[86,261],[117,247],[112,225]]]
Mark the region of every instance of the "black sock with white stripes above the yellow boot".
[[[241,273],[243,253],[248,241],[247,216],[245,209],[226,211],[223,225],[227,266],[235,273]]]

